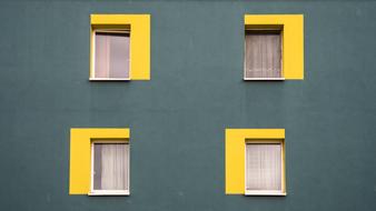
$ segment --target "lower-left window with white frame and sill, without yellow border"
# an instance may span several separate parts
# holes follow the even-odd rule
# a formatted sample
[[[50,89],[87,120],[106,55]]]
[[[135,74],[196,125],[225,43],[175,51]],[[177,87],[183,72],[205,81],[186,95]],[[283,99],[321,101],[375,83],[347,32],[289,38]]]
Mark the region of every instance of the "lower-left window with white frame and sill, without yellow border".
[[[91,192],[129,194],[129,145],[126,141],[91,143]]]

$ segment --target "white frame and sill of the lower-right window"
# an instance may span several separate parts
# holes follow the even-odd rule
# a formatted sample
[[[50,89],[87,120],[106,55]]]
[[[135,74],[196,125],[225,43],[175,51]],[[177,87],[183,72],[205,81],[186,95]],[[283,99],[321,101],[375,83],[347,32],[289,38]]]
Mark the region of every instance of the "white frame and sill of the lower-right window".
[[[247,144],[280,144],[280,190],[247,190]],[[284,139],[268,139],[268,140],[253,140],[247,139],[245,143],[245,195],[286,195],[285,182],[285,140]]]

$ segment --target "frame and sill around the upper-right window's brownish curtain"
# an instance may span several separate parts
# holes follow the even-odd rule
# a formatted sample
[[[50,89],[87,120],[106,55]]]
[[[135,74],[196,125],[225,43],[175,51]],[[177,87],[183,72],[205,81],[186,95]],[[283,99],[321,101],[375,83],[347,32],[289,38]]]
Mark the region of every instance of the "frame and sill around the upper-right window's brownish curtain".
[[[285,77],[284,77],[284,29],[283,28],[271,28],[271,29],[246,29],[245,33],[247,32],[250,32],[250,31],[265,31],[265,32],[268,32],[268,31],[279,31],[279,39],[280,39],[280,76],[279,78],[250,78],[250,77],[246,77],[246,36],[245,36],[245,40],[244,40],[244,80],[245,81],[284,81],[285,80]]]

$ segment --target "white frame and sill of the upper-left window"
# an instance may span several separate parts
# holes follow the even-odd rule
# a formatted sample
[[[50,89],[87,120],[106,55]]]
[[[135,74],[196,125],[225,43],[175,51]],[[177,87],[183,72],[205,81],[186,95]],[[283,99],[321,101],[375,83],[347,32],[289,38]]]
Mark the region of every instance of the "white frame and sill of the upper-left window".
[[[96,34],[97,32],[105,32],[105,33],[123,33],[129,36],[129,72],[128,78],[97,78],[96,76]],[[90,81],[130,81],[130,72],[131,72],[131,37],[130,37],[129,29],[93,29],[92,37],[91,37],[91,72],[90,72]]]

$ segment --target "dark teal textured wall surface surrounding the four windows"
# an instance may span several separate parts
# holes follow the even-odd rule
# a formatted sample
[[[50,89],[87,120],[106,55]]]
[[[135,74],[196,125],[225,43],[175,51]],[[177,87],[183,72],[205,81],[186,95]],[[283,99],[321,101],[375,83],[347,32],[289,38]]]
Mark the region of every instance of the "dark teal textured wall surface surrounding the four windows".
[[[376,210],[375,1],[1,1],[0,210]],[[90,13],[151,14],[151,80],[89,82]],[[305,80],[243,81],[244,14],[305,14]],[[131,195],[68,194],[69,129],[131,129]],[[285,128],[287,197],[225,194]]]

